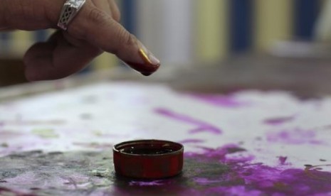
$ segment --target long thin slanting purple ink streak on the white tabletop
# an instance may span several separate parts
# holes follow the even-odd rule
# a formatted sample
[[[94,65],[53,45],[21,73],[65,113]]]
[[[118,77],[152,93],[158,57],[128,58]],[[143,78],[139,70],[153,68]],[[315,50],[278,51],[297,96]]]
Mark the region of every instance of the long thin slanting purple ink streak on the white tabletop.
[[[173,111],[170,111],[168,109],[162,109],[162,108],[157,108],[154,110],[157,114],[162,115],[162,116],[167,116],[168,118],[175,119],[177,121],[182,121],[186,122],[187,124],[193,124],[198,126],[196,129],[192,129],[189,131],[191,134],[196,134],[200,132],[210,132],[211,134],[221,134],[222,131],[218,127],[209,124],[207,122],[198,120],[198,119],[193,119],[190,116],[185,116],[183,114],[177,114]]]

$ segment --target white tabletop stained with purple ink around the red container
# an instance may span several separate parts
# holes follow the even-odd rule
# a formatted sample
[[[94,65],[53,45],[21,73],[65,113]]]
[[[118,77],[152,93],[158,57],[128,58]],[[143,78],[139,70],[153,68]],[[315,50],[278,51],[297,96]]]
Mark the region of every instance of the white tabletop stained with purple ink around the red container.
[[[0,195],[325,195],[331,97],[99,83],[0,104]],[[175,178],[114,173],[112,145],[184,144]]]

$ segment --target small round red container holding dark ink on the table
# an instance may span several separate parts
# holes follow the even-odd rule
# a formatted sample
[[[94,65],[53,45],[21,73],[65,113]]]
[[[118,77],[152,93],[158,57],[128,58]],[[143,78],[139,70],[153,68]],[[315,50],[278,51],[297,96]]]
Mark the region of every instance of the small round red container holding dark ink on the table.
[[[116,144],[112,151],[118,175],[159,179],[182,172],[184,146],[180,143],[162,140],[126,141]]]

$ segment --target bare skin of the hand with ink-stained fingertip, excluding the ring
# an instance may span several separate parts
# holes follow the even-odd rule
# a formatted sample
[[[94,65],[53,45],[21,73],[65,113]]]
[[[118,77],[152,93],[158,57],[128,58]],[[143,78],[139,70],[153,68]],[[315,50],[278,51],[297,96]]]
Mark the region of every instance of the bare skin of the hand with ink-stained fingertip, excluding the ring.
[[[65,0],[0,0],[0,30],[36,31],[57,28]],[[36,43],[24,55],[26,78],[56,80],[82,70],[101,53],[117,55],[143,75],[150,75],[159,60],[120,23],[113,0],[86,0],[68,25],[45,43]]]

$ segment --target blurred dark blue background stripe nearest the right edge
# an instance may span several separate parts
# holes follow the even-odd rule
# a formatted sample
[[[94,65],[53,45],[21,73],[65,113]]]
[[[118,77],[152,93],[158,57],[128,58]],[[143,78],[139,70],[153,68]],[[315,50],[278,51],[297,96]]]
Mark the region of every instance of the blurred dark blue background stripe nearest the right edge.
[[[294,2],[294,36],[303,40],[312,40],[320,2],[317,0],[295,0]]]

